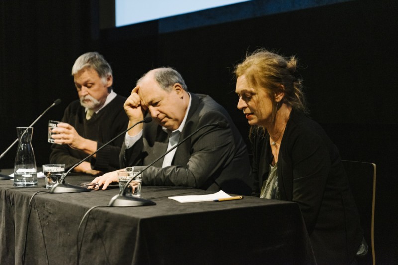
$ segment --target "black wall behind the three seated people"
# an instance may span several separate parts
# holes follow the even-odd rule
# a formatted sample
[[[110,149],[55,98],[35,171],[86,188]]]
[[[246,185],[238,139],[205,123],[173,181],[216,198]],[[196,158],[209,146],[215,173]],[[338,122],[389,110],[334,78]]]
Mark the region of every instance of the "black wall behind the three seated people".
[[[70,76],[75,59],[98,51],[114,71],[114,88],[127,96],[151,68],[172,66],[192,92],[210,94],[233,117],[233,66],[258,47],[297,55],[311,116],[343,159],[377,164],[376,258],[398,262],[397,2],[350,1],[160,34],[154,22],[100,30],[97,0],[0,2],[0,152],[55,99],[36,123],[38,166],[48,162],[47,121],[59,120],[77,98]],[[102,9],[103,12],[103,9]],[[0,161],[13,167],[16,147]]]

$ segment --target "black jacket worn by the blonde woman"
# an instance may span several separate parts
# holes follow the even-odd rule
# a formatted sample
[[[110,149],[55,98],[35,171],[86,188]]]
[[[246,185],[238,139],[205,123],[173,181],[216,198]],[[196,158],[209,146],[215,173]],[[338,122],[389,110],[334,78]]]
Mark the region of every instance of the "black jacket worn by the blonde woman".
[[[269,135],[253,141],[254,194],[273,159]],[[278,155],[282,200],[300,206],[318,264],[348,264],[361,244],[359,215],[337,147],[319,124],[292,110]]]

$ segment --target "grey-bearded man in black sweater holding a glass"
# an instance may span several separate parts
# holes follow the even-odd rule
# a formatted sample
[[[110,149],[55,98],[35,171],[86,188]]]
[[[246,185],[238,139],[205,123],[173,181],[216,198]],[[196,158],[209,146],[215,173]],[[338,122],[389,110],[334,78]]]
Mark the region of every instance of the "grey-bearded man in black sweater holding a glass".
[[[66,108],[61,123],[53,129],[55,144],[50,154],[50,163],[62,163],[66,168],[120,134],[128,122],[123,110],[126,98],[112,90],[112,69],[102,55],[88,52],[79,56],[72,76],[79,100]],[[122,138],[114,140],[74,171],[98,175],[119,168],[122,142]]]

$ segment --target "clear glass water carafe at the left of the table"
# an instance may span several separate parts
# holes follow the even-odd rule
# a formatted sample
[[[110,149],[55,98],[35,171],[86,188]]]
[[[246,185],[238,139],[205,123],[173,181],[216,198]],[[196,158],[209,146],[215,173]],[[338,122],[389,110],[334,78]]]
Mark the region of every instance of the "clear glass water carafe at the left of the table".
[[[37,186],[37,168],[32,147],[33,127],[17,127],[18,150],[14,167],[14,186]]]

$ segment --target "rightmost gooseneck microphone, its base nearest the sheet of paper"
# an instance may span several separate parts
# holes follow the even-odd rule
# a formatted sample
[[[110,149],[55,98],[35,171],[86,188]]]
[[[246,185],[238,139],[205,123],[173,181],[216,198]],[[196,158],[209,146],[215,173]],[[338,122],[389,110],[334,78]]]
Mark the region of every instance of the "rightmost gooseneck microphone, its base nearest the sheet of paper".
[[[144,171],[146,171],[150,166],[152,166],[153,164],[155,164],[159,159],[163,158],[164,156],[166,156],[168,153],[170,153],[172,150],[176,149],[178,146],[180,146],[182,143],[184,143],[186,140],[190,139],[194,134],[196,134],[197,132],[199,132],[201,129],[206,128],[208,126],[216,126],[219,128],[226,128],[227,127],[227,123],[220,121],[217,123],[209,123],[206,125],[203,125],[201,127],[199,127],[197,130],[195,130],[193,133],[191,133],[190,135],[188,135],[187,137],[185,137],[181,142],[179,142],[178,144],[176,144],[175,146],[173,146],[172,148],[170,148],[168,151],[166,151],[166,153],[164,153],[163,155],[161,155],[160,157],[158,157],[157,159],[155,159],[152,163],[150,163],[148,166],[146,166],[143,170],[141,170],[140,172],[138,172],[137,174],[135,174],[133,177],[131,177],[127,183],[124,185],[123,190],[121,190],[119,192],[118,195],[115,195],[110,201],[108,206],[112,207],[130,207],[130,206],[147,206],[147,205],[156,205],[155,202],[151,201],[151,200],[146,200],[146,199],[141,199],[141,198],[135,198],[135,197],[126,197],[126,189],[128,187],[128,185],[130,184],[130,182],[137,177],[138,175],[140,175],[141,173],[143,173]]]

